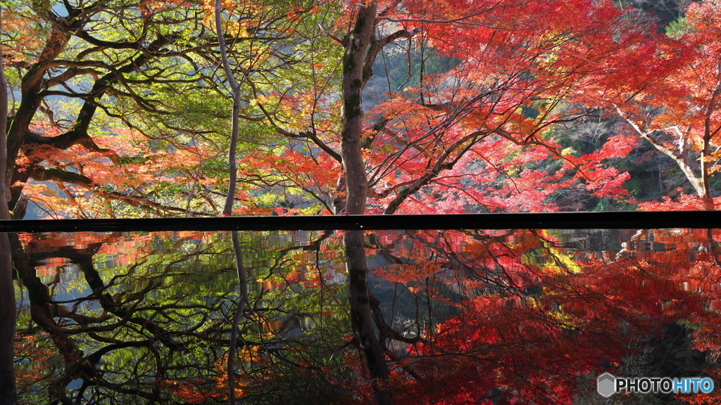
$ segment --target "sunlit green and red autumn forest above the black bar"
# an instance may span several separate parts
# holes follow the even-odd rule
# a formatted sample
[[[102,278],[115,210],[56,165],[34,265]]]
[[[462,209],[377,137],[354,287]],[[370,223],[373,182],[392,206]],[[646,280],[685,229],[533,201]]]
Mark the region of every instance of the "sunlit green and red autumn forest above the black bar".
[[[0,4],[14,218],[721,203],[719,1]]]

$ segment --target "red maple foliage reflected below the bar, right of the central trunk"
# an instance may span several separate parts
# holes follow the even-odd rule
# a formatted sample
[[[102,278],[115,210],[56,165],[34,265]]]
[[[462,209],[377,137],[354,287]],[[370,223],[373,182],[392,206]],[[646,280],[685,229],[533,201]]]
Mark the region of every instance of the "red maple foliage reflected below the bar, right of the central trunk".
[[[389,357],[398,403],[571,403],[580,379],[617,373],[624,356],[677,322],[693,331],[695,350],[721,352],[721,230],[639,231],[621,252],[601,254],[554,247],[546,231],[506,232],[384,236],[409,264],[376,277],[422,301],[440,285],[462,295],[435,301],[459,314]]]

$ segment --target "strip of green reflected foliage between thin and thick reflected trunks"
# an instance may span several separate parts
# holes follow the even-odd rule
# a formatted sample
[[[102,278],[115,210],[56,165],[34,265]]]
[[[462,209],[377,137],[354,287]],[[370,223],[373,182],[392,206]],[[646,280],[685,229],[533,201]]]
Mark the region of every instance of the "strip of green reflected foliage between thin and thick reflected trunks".
[[[274,238],[270,244],[242,241],[248,246],[244,263],[255,263],[258,270],[252,274],[257,287],[249,282],[249,305],[239,328],[236,381],[244,403],[351,401],[335,383],[343,378],[339,362],[348,346],[342,339],[348,334],[348,303],[340,298],[337,254],[326,250],[327,243],[335,243],[332,234],[305,239],[298,233],[301,241]],[[259,249],[272,254],[247,260]]]

